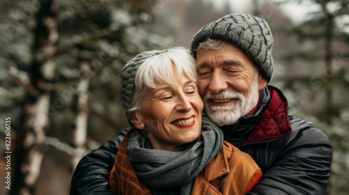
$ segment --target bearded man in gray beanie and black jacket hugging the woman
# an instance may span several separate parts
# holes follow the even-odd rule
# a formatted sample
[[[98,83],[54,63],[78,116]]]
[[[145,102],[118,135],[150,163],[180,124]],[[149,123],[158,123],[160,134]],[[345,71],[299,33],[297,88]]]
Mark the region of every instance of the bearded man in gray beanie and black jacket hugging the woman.
[[[273,38],[253,15],[226,15],[202,27],[191,42],[205,111],[224,138],[253,157],[263,172],[249,194],[325,194],[332,146],[313,123],[288,116],[273,86]],[[70,194],[108,194],[107,176],[124,136],[84,157]]]

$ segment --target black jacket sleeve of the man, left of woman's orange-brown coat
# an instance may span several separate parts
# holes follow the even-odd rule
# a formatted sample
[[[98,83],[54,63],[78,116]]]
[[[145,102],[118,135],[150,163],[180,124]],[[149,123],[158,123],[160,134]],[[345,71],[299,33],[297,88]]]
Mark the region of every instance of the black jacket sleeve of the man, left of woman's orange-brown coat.
[[[107,177],[127,131],[123,130],[117,137],[107,141],[80,160],[70,183],[70,195],[112,194]]]

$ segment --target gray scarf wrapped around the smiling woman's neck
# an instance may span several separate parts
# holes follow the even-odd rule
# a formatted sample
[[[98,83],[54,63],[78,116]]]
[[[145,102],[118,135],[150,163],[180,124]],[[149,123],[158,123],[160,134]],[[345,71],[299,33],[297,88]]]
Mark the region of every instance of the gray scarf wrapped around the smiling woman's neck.
[[[151,194],[191,194],[194,178],[221,150],[223,132],[202,113],[202,132],[197,141],[181,152],[151,149],[149,139],[140,131],[132,131],[128,140],[128,159],[138,179]]]

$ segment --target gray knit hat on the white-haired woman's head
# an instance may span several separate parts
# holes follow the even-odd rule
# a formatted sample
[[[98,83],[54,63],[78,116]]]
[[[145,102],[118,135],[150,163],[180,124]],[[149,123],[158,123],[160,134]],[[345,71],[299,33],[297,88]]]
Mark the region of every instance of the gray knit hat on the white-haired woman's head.
[[[128,110],[131,109],[133,102],[133,93],[135,92],[135,75],[137,70],[140,68],[140,65],[142,65],[142,63],[144,63],[144,61],[149,59],[151,56],[161,54],[161,52],[164,51],[165,50],[153,50],[142,52],[128,61],[124,68],[121,69],[121,101],[124,106],[126,118],[131,127],[133,127],[133,123],[131,123],[131,115],[128,113]]]

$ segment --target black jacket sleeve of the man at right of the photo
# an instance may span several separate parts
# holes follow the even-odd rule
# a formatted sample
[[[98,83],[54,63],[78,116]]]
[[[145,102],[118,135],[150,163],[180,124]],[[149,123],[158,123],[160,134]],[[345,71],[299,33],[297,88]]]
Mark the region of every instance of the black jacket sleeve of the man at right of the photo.
[[[257,156],[261,160],[268,159],[265,161],[270,162],[265,164],[272,166],[262,169],[262,179],[248,194],[326,193],[332,163],[329,139],[318,127],[305,120],[292,118],[290,123],[292,132],[288,137],[279,143],[267,143],[263,146],[266,152]],[[272,153],[278,155],[271,157]]]

